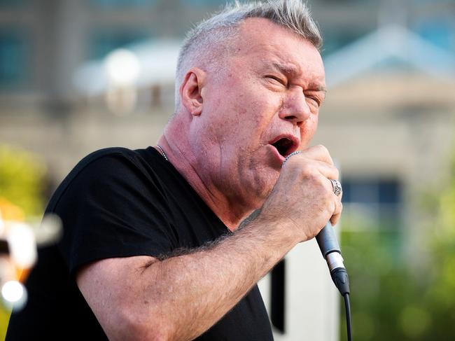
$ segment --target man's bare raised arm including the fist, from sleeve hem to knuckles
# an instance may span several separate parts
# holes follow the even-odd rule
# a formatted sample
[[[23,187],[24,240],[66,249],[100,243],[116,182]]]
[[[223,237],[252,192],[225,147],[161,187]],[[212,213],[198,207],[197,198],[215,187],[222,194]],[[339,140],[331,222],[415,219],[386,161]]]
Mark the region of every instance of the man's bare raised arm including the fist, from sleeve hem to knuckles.
[[[339,200],[327,180],[337,178],[336,169],[326,157],[307,156],[311,162],[300,155],[290,158],[258,217],[218,244],[162,261],[111,258],[80,270],[80,291],[108,337],[193,340],[295,244],[339,215]]]

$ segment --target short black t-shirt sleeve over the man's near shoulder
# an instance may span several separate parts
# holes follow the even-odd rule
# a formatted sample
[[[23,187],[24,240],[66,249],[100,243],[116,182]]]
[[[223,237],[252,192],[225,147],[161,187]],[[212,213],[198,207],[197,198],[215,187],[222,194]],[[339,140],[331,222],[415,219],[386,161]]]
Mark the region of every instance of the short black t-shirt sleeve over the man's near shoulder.
[[[94,260],[160,256],[176,245],[159,179],[121,153],[80,169],[53,211],[62,218],[59,249],[71,274]]]

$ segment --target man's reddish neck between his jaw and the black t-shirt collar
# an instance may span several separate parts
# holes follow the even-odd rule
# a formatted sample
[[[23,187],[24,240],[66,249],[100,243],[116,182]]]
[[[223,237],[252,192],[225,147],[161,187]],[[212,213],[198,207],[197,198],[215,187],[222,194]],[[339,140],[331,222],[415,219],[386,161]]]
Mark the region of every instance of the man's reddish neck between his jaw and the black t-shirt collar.
[[[255,207],[248,207],[245,203],[241,203],[238,198],[230,200],[216,186],[212,186],[208,181],[204,181],[198,174],[197,169],[193,167],[195,162],[192,155],[184,152],[179,144],[174,144],[171,139],[167,139],[166,134],[160,137],[158,145],[165,152],[168,161],[190,183],[190,186],[193,187],[196,193],[214,211],[214,214],[223,221],[229,230],[237,230],[241,221],[244,221],[246,217],[253,213]],[[155,148],[162,154],[160,148]]]

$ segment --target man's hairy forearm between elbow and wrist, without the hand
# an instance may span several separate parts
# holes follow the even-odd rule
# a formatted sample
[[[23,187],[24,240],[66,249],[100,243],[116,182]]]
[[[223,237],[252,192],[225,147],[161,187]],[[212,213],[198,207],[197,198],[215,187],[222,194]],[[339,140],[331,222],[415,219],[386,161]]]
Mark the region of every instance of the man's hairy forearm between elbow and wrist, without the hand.
[[[126,315],[142,340],[193,340],[216,323],[293,246],[282,229],[253,221],[209,248],[147,266]],[[119,333],[116,336],[120,336]],[[132,334],[121,335],[125,339]]]

